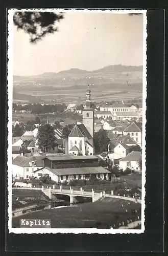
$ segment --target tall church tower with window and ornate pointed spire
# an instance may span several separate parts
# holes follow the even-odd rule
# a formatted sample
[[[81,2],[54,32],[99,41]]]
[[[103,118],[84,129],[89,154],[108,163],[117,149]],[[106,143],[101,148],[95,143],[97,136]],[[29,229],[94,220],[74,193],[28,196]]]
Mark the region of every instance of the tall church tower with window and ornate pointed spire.
[[[90,135],[94,136],[94,110],[91,108],[91,91],[88,89],[86,91],[86,103],[83,109],[83,124],[87,128]],[[92,141],[93,145],[93,141]]]

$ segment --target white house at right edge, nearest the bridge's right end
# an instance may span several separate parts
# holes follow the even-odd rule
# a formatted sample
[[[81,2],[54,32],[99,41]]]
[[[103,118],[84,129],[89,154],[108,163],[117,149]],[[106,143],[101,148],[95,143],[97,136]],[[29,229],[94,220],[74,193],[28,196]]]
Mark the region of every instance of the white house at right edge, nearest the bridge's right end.
[[[119,160],[119,167],[125,170],[127,167],[132,167],[134,170],[141,169],[141,152],[132,151],[126,157]]]

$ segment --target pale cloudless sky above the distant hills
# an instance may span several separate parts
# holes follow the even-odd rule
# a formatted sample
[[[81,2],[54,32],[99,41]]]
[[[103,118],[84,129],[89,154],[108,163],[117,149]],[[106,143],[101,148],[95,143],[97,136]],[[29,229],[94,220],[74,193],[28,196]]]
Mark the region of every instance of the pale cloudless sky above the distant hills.
[[[14,27],[14,75],[143,64],[143,15],[66,12],[57,26],[36,44]]]

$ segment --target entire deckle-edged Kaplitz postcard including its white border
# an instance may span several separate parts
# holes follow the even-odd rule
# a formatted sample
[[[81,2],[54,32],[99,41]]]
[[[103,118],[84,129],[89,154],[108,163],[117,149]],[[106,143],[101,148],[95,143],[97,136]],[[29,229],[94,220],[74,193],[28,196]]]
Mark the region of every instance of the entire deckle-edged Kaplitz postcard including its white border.
[[[146,10],[8,10],[11,233],[145,231]]]

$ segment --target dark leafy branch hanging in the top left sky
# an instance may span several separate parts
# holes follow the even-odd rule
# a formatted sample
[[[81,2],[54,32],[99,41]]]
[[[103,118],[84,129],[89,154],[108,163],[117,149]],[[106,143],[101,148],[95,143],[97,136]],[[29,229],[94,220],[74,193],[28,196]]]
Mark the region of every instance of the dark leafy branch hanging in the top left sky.
[[[58,31],[56,22],[63,18],[63,12],[15,12],[13,22],[17,29],[29,34],[30,42],[35,43],[46,34]]]

